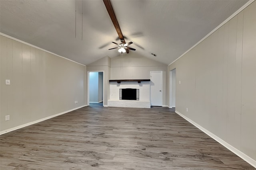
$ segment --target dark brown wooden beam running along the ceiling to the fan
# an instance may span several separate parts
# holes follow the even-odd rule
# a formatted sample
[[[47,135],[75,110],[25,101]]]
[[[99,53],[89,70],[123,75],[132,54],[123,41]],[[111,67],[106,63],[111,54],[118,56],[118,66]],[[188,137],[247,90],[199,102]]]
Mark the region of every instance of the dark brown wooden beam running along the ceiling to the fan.
[[[121,39],[121,40],[124,40],[124,36],[122,34],[122,31],[120,29],[120,26],[118,24],[118,21],[116,19],[116,15],[115,15],[115,12],[113,10],[113,7],[112,7],[112,4],[110,2],[110,0],[103,0],[105,6],[106,6],[106,9],[108,11],[108,14],[112,20],[112,23],[114,24],[114,27],[116,28],[116,32],[118,34],[118,37]],[[123,41],[122,43],[125,44],[125,41]]]

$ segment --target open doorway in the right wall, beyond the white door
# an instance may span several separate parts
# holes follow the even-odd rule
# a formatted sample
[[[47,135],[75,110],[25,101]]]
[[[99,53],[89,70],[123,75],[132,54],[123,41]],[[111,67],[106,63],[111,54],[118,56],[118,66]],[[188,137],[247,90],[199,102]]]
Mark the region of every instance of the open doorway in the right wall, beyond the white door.
[[[175,111],[175,106],[176,106],[176,68],[173,70],[170,70],[170,94],[169,94],[169,101],[170,101],[170,108],[174,108]]]

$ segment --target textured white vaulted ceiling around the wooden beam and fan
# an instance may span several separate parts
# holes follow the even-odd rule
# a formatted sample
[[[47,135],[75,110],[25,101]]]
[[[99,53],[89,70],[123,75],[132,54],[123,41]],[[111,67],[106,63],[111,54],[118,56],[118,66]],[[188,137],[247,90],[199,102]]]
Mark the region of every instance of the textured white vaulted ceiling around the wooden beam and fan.
[[[126,42],[134,42],[130,53],[170,64],[246,2],[112,0],[112,6]],[[0,0],[0,32],[82,64],[120,55],[108,50],[120,40],[102,0]]]

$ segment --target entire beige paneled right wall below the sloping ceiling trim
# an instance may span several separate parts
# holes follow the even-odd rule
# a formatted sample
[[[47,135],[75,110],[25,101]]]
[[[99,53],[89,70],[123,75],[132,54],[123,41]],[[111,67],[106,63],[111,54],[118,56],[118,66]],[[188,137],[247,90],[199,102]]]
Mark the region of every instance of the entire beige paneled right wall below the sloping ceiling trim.
[[[168,70],[176,68],[177,113],[256,167],[255,16],[253,2]]]

